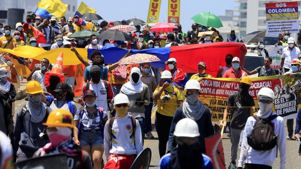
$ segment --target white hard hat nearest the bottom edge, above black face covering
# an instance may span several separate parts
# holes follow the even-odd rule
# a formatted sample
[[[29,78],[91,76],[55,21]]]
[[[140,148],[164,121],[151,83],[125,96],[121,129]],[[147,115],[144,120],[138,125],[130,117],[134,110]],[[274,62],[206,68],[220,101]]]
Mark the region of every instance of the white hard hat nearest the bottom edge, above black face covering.
[[[176,124],[174,135],[186,137],[199,136],[199,126],[195,120],[191,118],[183,118]]]

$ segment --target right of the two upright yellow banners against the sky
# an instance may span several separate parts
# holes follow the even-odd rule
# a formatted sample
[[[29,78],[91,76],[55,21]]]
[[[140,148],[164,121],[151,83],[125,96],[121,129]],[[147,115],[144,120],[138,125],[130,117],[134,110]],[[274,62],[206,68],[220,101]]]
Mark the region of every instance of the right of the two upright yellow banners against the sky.
[[[180,0],[168,0],[168,22],[180,23]]]

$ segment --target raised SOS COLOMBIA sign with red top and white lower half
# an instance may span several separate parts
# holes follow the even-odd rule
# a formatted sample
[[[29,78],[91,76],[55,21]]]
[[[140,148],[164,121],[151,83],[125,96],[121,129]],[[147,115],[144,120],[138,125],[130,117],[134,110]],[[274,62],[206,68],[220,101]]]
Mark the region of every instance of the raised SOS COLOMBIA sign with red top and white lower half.
[[[265,3],[266,34],[299,32],[298,2]]]

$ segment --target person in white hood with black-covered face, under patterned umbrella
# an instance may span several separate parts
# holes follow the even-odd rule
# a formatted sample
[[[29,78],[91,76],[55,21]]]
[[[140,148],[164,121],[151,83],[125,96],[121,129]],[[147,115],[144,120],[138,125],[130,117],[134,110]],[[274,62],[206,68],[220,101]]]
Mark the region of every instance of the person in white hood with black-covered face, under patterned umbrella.
[[[137,67],[130,70],[130,80],[122,85],[120,93],[128,96],[129,108],[128,114],[135,117],[141,127],[142,135],[144,133],[144,105],[150,101],[148,86],[141,81],[141,72]]]

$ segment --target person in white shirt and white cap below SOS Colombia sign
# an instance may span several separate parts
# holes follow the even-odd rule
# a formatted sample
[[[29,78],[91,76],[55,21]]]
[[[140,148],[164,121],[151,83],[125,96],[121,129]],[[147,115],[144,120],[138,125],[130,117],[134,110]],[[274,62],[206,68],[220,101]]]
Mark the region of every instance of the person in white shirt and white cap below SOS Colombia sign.
[[[293,37],[289,37],[287,40],[288,46],[284,47],[282,50],[282,57],[281,57],[281,63],[280,63],[280,74],[283,72],[284,68],[284,73],[289,71],[291,68],[290,62],[294,58],[301,58],[301,51],[298,47],[294,46],[294,39]]]

